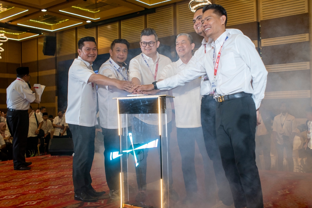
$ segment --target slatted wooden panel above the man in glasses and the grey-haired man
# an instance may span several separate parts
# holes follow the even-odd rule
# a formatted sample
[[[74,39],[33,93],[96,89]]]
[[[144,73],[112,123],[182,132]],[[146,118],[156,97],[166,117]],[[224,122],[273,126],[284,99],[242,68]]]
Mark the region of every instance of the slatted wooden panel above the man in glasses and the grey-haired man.
[[[174,35],[173,5],[156,8],[156,12],[146,15],[147,27],[156,30],[158,37]]]

